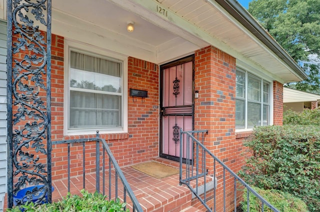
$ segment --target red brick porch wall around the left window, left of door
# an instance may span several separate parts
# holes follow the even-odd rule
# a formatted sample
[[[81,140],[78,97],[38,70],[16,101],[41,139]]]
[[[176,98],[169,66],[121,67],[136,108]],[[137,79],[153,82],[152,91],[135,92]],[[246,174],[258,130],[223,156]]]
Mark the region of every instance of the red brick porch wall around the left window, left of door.
[[[63,52],[63,49],[60,50]],[[63,70],[63,64],[61,68]],[[59,83],[53,83],[52,81],[52,90],[60,87],[62,90],[54,95],[56,99],[52,98],[52,106],[56,106],[54,113],[52,109],[52,140],[92,137],[92,135],[63,136],[63,71],[56,78],[62,80]],[[107,141],[120,166],[141,163],[158,156],[158,66],[129,57],[128,88],[148,91],[148,97],[143,100],[136,97],[133,99],[128,95],[128,133],[100,135],[100,138]],[[67,177],[66,150],[66,145],[54,145],[52,147],[53,180]],[[71,175],[81,175],[82,146],[72,145],[70,151],[72,155]],[[94,172],[95,146],[93,143],[86,147],[85,157],[86,172]]]

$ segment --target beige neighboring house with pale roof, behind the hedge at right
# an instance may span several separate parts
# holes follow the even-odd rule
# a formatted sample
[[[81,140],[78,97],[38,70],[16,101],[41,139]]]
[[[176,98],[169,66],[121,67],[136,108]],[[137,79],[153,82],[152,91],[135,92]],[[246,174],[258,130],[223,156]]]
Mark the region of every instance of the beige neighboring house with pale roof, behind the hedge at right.
[[[304,109],[315,109],[319,106],[320,95],[283,88],[283,110],[291,109],[295,112],[302,112]]]

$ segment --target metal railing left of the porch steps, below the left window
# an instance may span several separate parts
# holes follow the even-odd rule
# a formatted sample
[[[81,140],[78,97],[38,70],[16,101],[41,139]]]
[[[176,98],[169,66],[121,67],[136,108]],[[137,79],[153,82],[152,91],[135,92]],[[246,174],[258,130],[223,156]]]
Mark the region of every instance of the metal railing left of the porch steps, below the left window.
[[[88,139],[77,139],[77,140],[62,140],[62,141],[53,141],[52,145],[57,144],[66,144],[67,145],[67,187],[68,192],[70,192],[70,165],[71,165],[71,154],[70,147],[74,144],[82,144],[82,184],[83,189],[86,188],[85,184],[87,182],[86,176],[91,173],[86,172],[85,167],[85,153],[86,153],[86,143],[95,142],[95,191],[107,195],[109,200],[120,199],[124,203],[128,204],[128,207],[132,207],[132,212],[143,212],[140,204],[138,203],[135,195],[133,194],[132,189],[130,188],[128,182],[126,181],[119,165],[117,164],[115,158],[113,157],[110,148],[104,139],[99,138],[98,131],[95,138]],[[100,149],[100,147],[102,149]],[[106,153],[106,154],[105,154]],[[107,156],[107,158],[106,158]],[[119,184],[118,180],[120,180]],[[102,183],[102,190],[100,184]],[[107,184],[107,186],[106,186]],[[79,189],[79,188],[77,188]],[[107,190],[107,191],[106,191]],[[123,196],[118,193],[123,192]],[[127,201],[129,197],[130,202]]]

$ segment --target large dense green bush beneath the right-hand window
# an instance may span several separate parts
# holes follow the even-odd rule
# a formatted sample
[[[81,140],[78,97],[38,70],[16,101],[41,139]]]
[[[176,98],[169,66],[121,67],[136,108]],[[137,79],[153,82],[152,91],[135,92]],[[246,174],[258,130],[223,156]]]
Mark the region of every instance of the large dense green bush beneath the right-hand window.
[[[320,127],[258,127],[244,145],[252,154],[239,173],[246,182],[288,192],[320,212]]]

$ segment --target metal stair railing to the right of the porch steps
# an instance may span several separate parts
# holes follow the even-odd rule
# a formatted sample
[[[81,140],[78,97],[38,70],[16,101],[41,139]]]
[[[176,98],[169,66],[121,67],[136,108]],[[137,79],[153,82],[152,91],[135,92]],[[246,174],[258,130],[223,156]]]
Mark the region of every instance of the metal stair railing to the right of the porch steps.
[[[250,193],[252,193],[260,201],[262,212],[264,211],[265,207],[268,207],[273,212],[279,212],[203,145],[204,134],[207,134],[207,132],[207,130],[183,132],[182,129],[180,129],[180,155],[184,155],[185,158],[189,159],[186,160],[185,164],[185,176],[182,176],[182,157],[180,157],[180,184],[186,185],[209,212],[212,212],[212,206],[209,206],[207,203],[208,200],[211,200],[210,205],[212,205],[212,196],[207,197],[207,194],[212,193],[213,212],[216,211],[216,189],[218,185],[216,180],[217,178],[222,180],[222,183],[220,184],[223,187],[223,212],[227,210],[225,201],[226,182],[228,188],[230,188],[230,182],[233,184],[234,212],[237,211],[237,206],[239,205],[239,203],[237,203],[237,191],[240,189],[240,187],[242,190],[243,188],[246,188],[247,212],[249,212]],[[186,147],[186,151],[184,153],[182,152],[183,146]],[[214,184],[213,187],[207,186],[207,182],[211,180],[209,179],[210,177],[207,176],[208,167],[213,169],[211,170],[213,172],[213,178],[211,178],[211,182]],[[217,173],[219,173],[219,176],[217,176]]]

